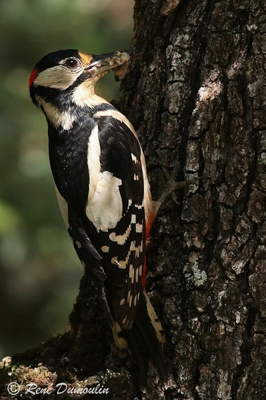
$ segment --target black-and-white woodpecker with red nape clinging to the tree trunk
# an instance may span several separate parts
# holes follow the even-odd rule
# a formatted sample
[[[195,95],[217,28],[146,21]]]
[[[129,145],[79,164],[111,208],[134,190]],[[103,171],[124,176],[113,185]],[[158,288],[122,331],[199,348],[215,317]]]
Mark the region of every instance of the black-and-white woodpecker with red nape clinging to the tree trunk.
[[[127,53],[94,56],[60,50],[29,78],[47,120],[49,160],[60,210],[75,251],[99,293],[119,349],[129,348],[145,382],[149,358],[165,378],[164,335],[144,289],[145,242],[157,209],[144,155],[130,122],[94,86]]]

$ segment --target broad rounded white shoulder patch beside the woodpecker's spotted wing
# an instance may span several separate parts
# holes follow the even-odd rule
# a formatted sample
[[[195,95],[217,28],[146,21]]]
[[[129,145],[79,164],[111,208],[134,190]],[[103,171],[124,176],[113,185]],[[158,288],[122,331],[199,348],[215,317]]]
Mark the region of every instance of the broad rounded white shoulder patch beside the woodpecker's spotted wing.
[[[121,179],[109,171],[99,173],[96,190],[86,206],[86,216],[96,229],[107,232],[115,228],[122,217]]]

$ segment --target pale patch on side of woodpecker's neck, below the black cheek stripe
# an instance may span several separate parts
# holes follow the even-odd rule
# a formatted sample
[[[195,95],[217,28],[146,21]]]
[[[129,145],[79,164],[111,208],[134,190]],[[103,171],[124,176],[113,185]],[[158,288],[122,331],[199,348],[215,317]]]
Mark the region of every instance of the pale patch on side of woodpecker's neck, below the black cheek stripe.
[[[73,114],[70,114],[70,111],[60,111],[51,103],[45,102],[45,100],[40,96],[36,96],[35,99],[38,106],[42,108],[44,114],[55,128],[61,126],[66,131],[72,128],[76,117]]]

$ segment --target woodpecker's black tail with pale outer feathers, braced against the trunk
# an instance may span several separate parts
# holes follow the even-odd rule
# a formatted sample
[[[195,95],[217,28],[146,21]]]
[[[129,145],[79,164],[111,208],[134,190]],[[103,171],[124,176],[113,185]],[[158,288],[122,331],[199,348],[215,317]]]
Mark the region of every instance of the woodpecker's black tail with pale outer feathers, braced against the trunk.
[[[117,322],[115,324],[117,327]],[[139,303],[132,328],[122,331],[118,329],[117,334],[120,341],[124,340],[122,337],[126,339],[127,346],[137,361],[138,383],[140,386],[146,383],[148,360],[150,358],[155,363],[161,379],[165,379],[166,368],[163,355],[164,335],[160,321],[144,291],[140,292]],[[117,343],[117,336],[115,342]]]

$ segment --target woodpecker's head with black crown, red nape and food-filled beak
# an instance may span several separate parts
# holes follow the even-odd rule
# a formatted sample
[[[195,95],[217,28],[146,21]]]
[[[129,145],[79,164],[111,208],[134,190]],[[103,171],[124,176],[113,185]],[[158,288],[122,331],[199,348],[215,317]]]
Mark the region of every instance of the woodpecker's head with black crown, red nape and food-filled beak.
[[[97,80],[110,69],[116,69],[119,75],[119,69],[128,60],[125,52],[95,56],[69,49],[49,53],[35,65],[29,77],[32,102],[44,112],[48,122],[59,126],[62,113],[69,115],[76,107],[92,107]]]

